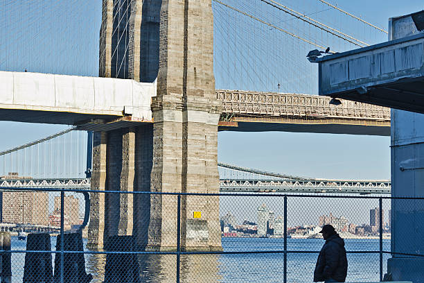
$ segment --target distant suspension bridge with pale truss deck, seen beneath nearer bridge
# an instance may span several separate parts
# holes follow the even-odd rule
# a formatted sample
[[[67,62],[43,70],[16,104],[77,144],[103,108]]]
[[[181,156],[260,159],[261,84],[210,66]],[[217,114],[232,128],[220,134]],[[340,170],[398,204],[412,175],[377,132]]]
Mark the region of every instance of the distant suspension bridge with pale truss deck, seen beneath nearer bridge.
[[[0,152],[0,173],[3,176],[0,186],[4,189],[90,189],[91,135],[91,132],[69,128]],[[60,166],[64,172],[58,171]],[[390,194],[389,180],[326,180],[225,163],[218,163],[218,167],[220,192],[223,193]],[[19,173],[15,178],[10,175],[14,172]]]

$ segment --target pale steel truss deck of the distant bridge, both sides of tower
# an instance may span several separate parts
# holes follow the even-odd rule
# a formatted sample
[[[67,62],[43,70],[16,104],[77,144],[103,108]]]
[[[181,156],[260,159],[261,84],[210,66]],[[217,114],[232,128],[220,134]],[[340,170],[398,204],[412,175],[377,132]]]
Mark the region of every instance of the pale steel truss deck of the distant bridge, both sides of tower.
[[[0,189],[90,189],[90,179],[0,180]],[[222,193],[390,194],[389,180],[220,179]]]

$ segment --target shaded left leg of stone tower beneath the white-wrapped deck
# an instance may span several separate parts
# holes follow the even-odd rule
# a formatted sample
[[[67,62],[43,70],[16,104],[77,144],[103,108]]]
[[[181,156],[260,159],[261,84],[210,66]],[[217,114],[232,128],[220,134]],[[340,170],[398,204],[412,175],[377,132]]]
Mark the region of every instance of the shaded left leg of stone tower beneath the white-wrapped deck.
[[[135,130],[125,128],[94,133],[91,189],[134,191]],[[132,234],[132,194],[91,194],[89,248],[102,249],[112,236]]]

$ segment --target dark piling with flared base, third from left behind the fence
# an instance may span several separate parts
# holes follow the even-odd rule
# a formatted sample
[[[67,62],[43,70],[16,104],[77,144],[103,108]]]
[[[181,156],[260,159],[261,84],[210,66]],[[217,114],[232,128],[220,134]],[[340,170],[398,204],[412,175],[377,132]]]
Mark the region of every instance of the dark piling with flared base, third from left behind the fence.
[[[93,276],[85,272],[84,247],[82,246],[81,233],[68,233],[63,237],[64,251],[74,251],[72,253],[64,252],[63,255],[63,282],[64,283],[89,283]],[[60,234],[56,240],[55,256],[55,282],[60,282],[60,250],[61,239]],[[78,252],[77,252],[78,251]]]

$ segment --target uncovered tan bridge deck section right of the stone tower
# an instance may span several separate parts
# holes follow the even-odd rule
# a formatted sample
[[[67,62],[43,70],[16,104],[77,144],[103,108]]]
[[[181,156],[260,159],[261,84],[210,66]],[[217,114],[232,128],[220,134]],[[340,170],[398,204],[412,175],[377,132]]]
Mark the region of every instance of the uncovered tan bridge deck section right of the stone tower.
[[[307,94],[217,90],[224,108],[220,130],[390,135],[390,109]]]

